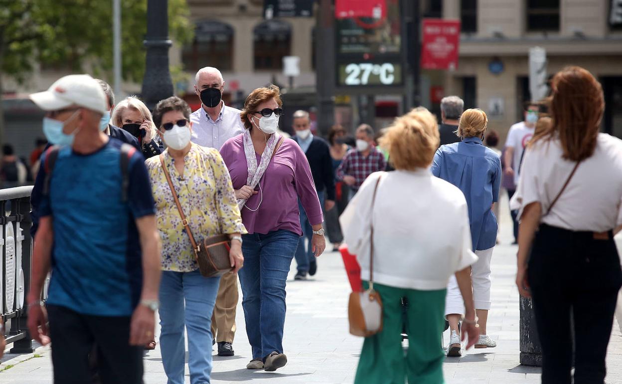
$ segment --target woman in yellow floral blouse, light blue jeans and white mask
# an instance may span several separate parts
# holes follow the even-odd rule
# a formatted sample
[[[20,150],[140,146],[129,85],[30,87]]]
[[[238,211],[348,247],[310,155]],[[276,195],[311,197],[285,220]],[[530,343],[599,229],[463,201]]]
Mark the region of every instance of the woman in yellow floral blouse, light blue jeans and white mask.
[[[231,236],[231,266],[242,267],[241,234],[246,233],[239,214],[231,177],[225,162],[213,148],[190,143],[190,107],[178,97],[160,101],[154,123],[167,149],[162,153],[175,192],[195,236],[226,233]],[[159,157],[147,159],[156,200],[157,227],[162,238],[160,283],[160,347],[169,383],[183,384],[188,333],[188,367],[193,383],[210,382],[211,312],[220,278],[204,278],[184,230]]]

